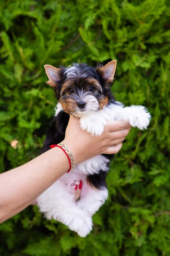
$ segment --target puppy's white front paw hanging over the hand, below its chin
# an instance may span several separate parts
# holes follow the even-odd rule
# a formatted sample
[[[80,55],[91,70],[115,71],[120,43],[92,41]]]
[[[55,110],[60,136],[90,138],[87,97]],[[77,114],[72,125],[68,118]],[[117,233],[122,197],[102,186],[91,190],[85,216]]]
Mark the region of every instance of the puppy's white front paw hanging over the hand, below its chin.
[[[104,119],[95,119],[93,117],[80,118],[80,127],[83,130],[91,133],[92,136],[100,136],[104,131],[104,125],[106,121]]]

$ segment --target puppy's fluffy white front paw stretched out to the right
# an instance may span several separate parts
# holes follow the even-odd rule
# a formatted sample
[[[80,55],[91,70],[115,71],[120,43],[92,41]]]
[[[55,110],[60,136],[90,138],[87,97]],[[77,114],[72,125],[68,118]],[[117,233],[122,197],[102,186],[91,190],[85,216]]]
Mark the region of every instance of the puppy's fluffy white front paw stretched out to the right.
[[[132,127],[137,127],[140,130],[146,129],[151,119],[150,113],[144,106],[122,108],[117,117],[129,121]]]

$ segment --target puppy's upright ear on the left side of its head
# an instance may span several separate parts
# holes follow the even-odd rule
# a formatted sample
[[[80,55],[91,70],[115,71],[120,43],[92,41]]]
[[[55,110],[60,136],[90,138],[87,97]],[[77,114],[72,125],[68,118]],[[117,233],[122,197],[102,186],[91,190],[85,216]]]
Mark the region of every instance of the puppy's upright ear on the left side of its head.
[[[44,68],[49,78],[49,81],[47,81],[46,83],[48,83],[52,87],[57,86],[57,82],[60,80],[60,69],[51,65],[44,65]]]

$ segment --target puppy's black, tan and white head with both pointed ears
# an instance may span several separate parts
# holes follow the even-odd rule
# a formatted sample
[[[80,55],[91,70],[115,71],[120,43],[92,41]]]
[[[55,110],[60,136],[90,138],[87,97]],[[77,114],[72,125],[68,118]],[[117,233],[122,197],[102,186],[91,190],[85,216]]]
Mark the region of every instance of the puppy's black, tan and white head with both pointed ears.
[[[84,63],[67,68],[44,67],[49,78],[47,83],[54,88],[57,100],[69,115],[82,117],[109,103],[116,61],[96,68]]]

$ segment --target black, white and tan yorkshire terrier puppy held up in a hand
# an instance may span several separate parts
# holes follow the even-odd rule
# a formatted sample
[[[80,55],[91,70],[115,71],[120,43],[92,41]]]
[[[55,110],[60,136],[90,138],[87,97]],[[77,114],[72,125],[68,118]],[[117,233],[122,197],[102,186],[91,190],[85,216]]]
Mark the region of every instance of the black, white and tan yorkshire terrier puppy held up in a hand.
[[[116,61],[96,68],[84,63],[67,68],[44,67],[58,104],[42,153],[64,139],[69,115],[79,117],[81,128],[93,136],[101,135],[106,121],[111,120],[127,120],[133,127],[147,128],[151,116],[146,108],[124,107],[110,91]],[[111,158],[98,155],[75,166],[38,197],[40,211],[85,237],[92,230],[93,214],[108,196],[106,175]]]

